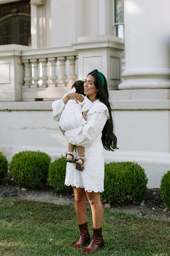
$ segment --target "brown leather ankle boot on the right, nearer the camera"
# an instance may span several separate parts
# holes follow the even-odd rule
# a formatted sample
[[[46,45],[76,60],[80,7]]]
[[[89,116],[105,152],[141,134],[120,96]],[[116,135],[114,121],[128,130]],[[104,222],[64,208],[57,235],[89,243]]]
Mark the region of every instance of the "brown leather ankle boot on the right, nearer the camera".
[[[96,249],[104,245],[104,240],[102,237],[102,227],[101,229],[93,229],[92,242],[89,246],[81,251],[82,254],[89,253],[91,251],[96,251]]]

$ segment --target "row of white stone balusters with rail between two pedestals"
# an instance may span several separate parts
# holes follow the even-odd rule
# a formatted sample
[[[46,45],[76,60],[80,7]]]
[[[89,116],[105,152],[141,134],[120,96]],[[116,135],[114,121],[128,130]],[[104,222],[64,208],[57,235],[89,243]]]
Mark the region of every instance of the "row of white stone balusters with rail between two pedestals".
[[[22,101],[51,100],[68,91],[77,78],[77,55],[72,47],[22,51]]]

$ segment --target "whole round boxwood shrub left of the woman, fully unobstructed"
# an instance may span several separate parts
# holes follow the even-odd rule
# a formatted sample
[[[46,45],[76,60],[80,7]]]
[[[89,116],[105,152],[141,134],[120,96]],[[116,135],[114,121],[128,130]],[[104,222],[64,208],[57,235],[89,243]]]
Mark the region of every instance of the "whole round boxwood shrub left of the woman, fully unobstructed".
[[[9,173],[22,186],[35,188],[48,177],[51,158],[40,151],[22,151],[15,154],[9,164]]]

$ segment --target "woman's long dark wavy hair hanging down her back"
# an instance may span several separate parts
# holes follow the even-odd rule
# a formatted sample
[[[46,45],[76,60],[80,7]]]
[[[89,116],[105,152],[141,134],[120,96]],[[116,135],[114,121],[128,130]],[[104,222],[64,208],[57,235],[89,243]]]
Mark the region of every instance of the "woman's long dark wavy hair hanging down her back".
[[[102,85],[101,79],[98,77],[96,73],[93,71],[90,72],[88,75],[92,75],[94,77],[94,85],[96,89],[98,90],[98,93],[96,97],[106,105],[109,111],[110,118],[107,119],[105,126],[102,130],[102,144],[103,147],[106,150],[111,150],[114,151],[114,149],[118,149],[117,147],[117,137],[114,134],[114,123],[112,119],[112,112],[111,112],[111,107],[110,107],[110,102],[109,102],[109,92],[107,88],[107,81],[105,76],[101,73],[104,79],[104,86]]]

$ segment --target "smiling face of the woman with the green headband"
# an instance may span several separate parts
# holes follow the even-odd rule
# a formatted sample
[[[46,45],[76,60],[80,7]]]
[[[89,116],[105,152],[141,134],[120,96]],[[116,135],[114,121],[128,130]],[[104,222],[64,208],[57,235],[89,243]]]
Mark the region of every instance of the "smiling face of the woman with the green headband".
[[[94,77],[92,75],[87,75],[84,82],[84,94],[88,96],[89,100],[94,102],[97,100],[97,89],[94,85]]]

